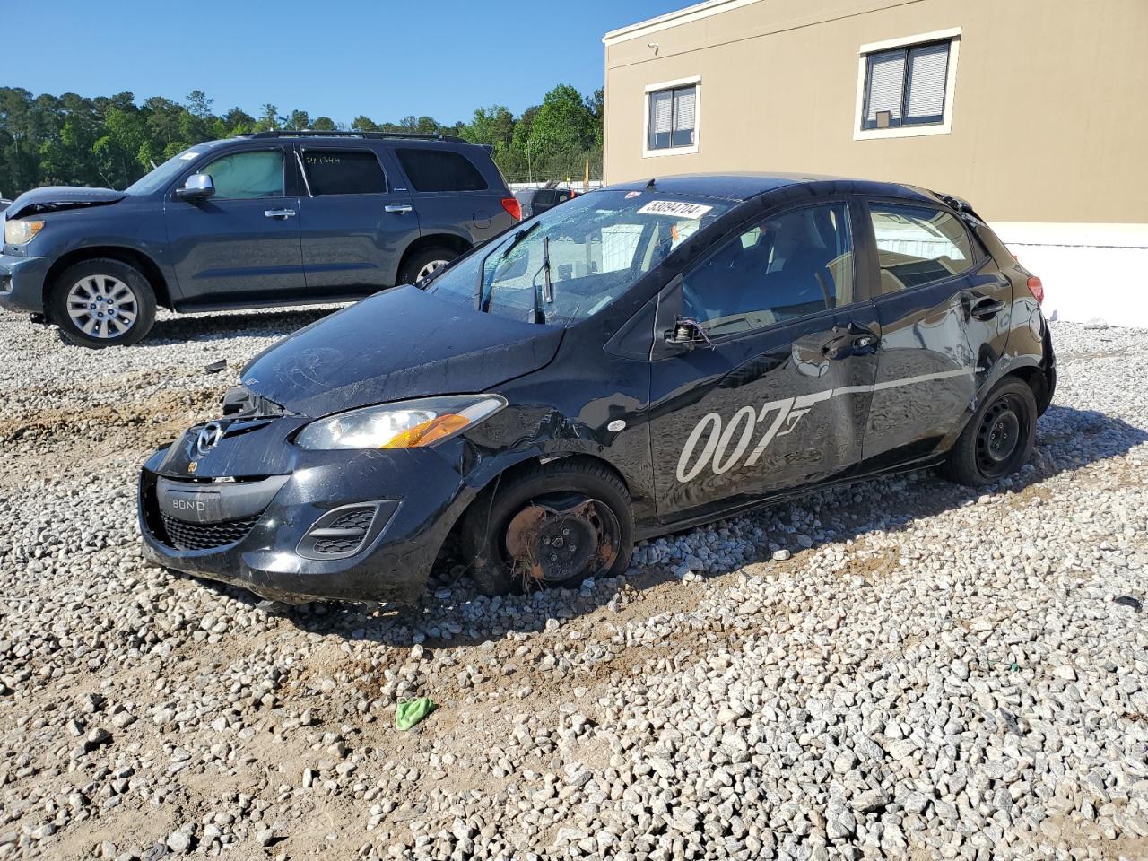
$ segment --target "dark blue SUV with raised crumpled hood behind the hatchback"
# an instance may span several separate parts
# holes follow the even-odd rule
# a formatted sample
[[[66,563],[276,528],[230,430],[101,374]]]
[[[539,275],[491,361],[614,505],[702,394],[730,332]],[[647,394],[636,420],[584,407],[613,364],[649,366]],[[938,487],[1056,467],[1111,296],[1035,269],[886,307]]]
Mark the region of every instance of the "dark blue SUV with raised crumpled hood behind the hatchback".
[[[460,138],[261,132],[200,144],[123,192],[51,187],[0,212],[0,307],[85,347],[176,311],[359,298],[412,284],[521,217]]]

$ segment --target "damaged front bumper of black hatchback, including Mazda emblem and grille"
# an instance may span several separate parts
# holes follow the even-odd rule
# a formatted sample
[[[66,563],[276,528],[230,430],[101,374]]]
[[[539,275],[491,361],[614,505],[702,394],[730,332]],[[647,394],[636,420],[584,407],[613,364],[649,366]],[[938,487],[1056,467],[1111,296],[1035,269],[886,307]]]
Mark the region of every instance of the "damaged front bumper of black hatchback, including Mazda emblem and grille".
[[[418,600],[473,498],[460,445],[304,451],[298,421],[224,424],[207,455],[193,428],[144,466],[149,560],[288,603]]]

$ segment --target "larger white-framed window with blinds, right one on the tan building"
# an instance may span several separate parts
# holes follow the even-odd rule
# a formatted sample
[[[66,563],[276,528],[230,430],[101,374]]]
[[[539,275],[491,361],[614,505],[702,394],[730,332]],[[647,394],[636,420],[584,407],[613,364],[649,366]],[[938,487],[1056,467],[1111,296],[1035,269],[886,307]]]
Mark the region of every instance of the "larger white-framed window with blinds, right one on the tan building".
[[[947,133],[960,44],[946,30],[862,45],[854,138]]]

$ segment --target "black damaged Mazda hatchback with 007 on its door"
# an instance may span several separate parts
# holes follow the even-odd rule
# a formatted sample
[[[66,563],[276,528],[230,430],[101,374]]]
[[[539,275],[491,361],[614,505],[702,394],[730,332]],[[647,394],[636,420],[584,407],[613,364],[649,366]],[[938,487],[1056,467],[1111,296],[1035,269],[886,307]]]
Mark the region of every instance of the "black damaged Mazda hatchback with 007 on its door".
[[[146,554],[286,600],[614,575],[786,495],[1029,458],[1040,281],[964,202],[680,177],[591,192],[256,357],[139,482]]]

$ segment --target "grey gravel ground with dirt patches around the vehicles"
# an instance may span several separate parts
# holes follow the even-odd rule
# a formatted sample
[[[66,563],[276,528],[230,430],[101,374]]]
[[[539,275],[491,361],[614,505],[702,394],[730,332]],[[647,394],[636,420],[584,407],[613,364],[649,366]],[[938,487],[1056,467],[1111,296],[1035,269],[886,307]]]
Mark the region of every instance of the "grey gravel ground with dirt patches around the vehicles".
[[[0,859],[1148,856],[1148,332],[1057,325],[984,495],[822,492],[576,592],[269,614],[145,565],[139,464],[317,313],[0,316]]]

